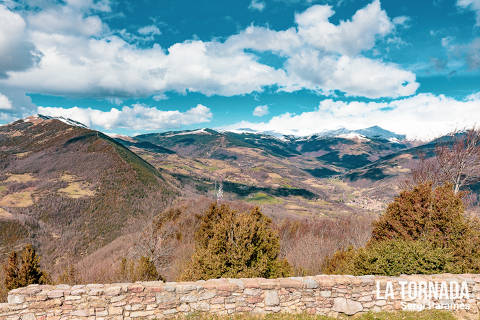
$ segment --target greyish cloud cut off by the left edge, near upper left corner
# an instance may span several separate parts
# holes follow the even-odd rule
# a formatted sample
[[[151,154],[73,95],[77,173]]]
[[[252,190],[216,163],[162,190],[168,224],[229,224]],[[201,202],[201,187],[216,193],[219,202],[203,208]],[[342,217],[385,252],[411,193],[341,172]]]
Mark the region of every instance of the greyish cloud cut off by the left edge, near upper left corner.
[[[26,40],[26,23],[17,13],[0,4],[0,78],[9,71],[23,71],[38,60],[35,46]]]

